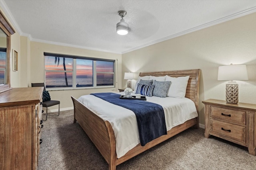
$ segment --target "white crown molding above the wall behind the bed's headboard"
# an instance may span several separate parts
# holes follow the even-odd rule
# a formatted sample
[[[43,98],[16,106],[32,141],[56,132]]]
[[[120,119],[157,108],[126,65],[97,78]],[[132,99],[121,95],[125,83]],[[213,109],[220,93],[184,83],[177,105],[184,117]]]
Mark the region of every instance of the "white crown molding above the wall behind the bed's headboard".
[[[229,21],[229,20],[233,20],[235,18],[239,18],[239,17],[242,17],[242,16],[246,16],[248,14],[252,14],[256,12],[256,6],[255,7],[252,7],[252,8],[249,8],[247,10],[244,10],[244,11],[241,11],[241,12],[237,12],[235,14],[232,14],[230,16],[226,16],[226,17],[223,17],[223,18],[220,18],[218,20],[214,20],[214,21],[211,21],[211,22],[208,22],[208,23],[205,23],[203,25],[199,25],[197,27],[194,27],[194,28],[191,28],[191,29],[187,29],[185,31],[182,31],[180,33],[176,33],[176,34],[173,34],[173,35],[170,35],[168,37],[164,37],[162,39],[158,39],[156,41],[152,41],[150,43],[146,43],[144,45],[140,45],[138,47],[135,47],[135,48],[132,48],[132,49],[129,49],[129,50],[126,50],[126,51],[122,51],[122,54],[124,53],[128,53],[128,52],[131,52],[131,51],[134,51],[134,50],[137,50],[137,49],[141,49],[143,47],[147,47],[147,46],[150,46],[150,45],[153,45],[153,44],[156,44],[156,43],[160,43],[162,41],[166,41],[168,39],[172,39],[172,38],[175,38],[175,37],[179,37],[181,35],[185,35],[187,33],[191,33],[191,32],[194,32],[194,31],[198,31],[200,29],[204,29],[204,28],[207,28],[207,27],[210,27],[210,26],[213,26],[213,25],[217,25],[219,23],[223,23],[223,22],[226,22],[226,21]]]

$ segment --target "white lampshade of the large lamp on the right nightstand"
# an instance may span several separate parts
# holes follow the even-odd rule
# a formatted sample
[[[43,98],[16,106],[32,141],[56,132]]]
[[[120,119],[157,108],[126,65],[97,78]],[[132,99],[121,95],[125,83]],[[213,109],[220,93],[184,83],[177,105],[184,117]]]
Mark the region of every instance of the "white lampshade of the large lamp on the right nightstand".
[[[218,80],[248,80],[246,64],[219,66]]]

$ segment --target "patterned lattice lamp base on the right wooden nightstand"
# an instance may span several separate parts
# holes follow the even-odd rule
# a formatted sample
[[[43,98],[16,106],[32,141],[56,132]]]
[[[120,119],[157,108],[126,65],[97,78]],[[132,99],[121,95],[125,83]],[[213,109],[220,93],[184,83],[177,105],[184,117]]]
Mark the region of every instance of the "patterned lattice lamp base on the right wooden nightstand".
[[[229,104],[238,103],[238,84],[226,84],[226,102]]]

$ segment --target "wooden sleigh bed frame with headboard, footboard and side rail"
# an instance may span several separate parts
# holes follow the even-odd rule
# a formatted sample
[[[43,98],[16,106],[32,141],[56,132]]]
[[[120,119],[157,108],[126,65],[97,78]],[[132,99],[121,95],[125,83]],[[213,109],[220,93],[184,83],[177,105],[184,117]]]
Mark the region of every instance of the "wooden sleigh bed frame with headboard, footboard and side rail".
[[[140,72],[140,76],[190,76],[188,80],[188,86],[186,89],[186,98],[190,98],[196,105],[196,110],[198,112],[198,96],[199,96],[199,80],[200,80],[200,69],[195,70],[178,70],[178,71],[162,71],[162,72]],[[102,120],[92,111],[90,111],[86,106],[78,102],[74,97],[72,97],[74,104],[74,123],[78,121],[80,126],[84,129],[88,137],[100,151],[106,162],[109,164],[109,170],[115,170],[116,166],[122,162],[144,152],[147,149],[158,145],[159,143],[173,137],[174,135],[194,126],[199,128],[198,117],[190,119],[185,123],[173,127],[167,132],[167,135],[163,135],[154,139],[153,141],[147,143],[144,147],[138,144],[132,150],[128,151],[121,158],[116,156],[116,141],[114,136],[114,131],[112,126],[108,121]]]

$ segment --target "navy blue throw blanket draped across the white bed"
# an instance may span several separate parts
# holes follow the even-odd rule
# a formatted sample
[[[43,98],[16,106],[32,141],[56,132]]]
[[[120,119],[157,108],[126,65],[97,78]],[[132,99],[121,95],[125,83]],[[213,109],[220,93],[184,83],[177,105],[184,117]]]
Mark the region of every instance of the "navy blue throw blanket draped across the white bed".
[[[120,99],[120,94],[115,93],[92,93],[91,95],[112,104],[130,109],[135,113],[141,146],[145,146],[146,143],[162,135],[167,135],[164,109],[159,104],[146,102],[144,100]]]

